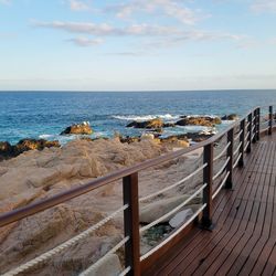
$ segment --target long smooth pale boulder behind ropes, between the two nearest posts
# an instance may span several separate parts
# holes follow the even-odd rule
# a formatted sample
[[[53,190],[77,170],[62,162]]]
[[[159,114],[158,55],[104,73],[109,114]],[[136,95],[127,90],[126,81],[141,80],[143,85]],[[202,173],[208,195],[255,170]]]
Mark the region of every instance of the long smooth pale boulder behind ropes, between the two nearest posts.
[[[190,195],[178,195],[169,199],[163,199],[163,200],[157,200],[152,203],[149,204],[144,204],[140,208],[140,223],[151,223],[152,221],[159,219],[160,216],[167,214],[170,212],[172,209],[181,204],[183,201],[185,201]],[[188,208],[190,209],[195,209],[199,203],[201,203],[202,200],[201,198],[195,198],[191,200],[185,206],[183,206],[182,210],[185,210]],[[168,223],[170,219],[174,216],[174,214],[168,216],[160,223]]]

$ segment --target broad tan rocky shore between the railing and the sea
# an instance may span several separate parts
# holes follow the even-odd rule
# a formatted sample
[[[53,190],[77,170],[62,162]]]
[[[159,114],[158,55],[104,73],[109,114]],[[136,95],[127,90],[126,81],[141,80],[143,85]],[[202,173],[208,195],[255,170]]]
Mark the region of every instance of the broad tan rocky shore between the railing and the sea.
[[[211,120],[210,124],[214,121]],[[150,128],[145,128],[155,130],[156,127],[157,125],[151,125]],[[212,135],[212,132],[191,132],[162,138],[152,132],[145,132],[139,137],[118,136],[113,139],[94,140],[86,137],[73,140],[63,147],[60,147],[57,141],[33,139],[20,141],[14,146],[1,142],[0,213],[52,197],[72,187],[82,185],[126,166],[158,157],[170,150],[189,147],[192,141],[201,141]],[[220,150],[223,145],[225,141],[222,141],[215,150]],[[141,171],[139,195],[145,197],[159,191],[181,180],[201,164],[202,150],[198,150],[192,155]],[[214,170],[216,167],[220,167],[220,160]],[[201,179],[202,174],[199,174],[176,189],[142,202],[140,204],[141,225],[150,223],[182,202],[201,184]],[[0,272],[7,272],[75,236],[121,206],[121,181],[116,181],[0,229]],[[201,198],[194,199],[182,210],[184,213],[178,214],[177,217],[169,217],[147,231],[141,236],[141,252],[146,253],[155,246],[178,225],[179,220],[194,212],[200,203]],[[123,234],[120,214],[89,237],[25,275],[77,274],[110,250],[120,241]],[[123,251],[112,256],[109,262],[119,269]],[[104,272],[106,274],[107,270]]]

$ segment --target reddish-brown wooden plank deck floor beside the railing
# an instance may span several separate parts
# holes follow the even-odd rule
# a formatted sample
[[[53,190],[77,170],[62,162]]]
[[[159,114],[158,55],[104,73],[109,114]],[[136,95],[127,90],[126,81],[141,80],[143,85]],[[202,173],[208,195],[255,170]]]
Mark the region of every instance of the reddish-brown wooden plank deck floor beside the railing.
[[[195,229],[151,275],[276,275],[276,135],[253,145],[233,191],[214,202],[212,232]]]

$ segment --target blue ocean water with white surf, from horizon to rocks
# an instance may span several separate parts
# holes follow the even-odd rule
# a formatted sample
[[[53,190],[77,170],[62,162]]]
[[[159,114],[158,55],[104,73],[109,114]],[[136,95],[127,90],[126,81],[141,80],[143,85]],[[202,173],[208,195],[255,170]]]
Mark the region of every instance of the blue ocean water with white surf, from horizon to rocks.
[[[131,120],[161,117],[176,121],[181,115],[242,116],[254,106],[276,103],[275,91],[204,92],[0,92],[0,141],[18,142],[23,138],[59,139],[74,136],[60,132],[74,123],[89,121],[91,137],[140,135],[126,128]],[[217,130],[229,124],[224,123]],[[198,131],[202,127],[176,127],[163,136]]]

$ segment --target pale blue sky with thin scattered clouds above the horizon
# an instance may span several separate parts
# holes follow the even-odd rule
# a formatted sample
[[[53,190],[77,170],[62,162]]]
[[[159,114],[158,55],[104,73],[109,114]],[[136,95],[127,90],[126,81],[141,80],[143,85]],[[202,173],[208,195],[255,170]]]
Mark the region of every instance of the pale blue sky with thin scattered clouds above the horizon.
[[[276,0],[0,0],[0,91],[276,88]]]

